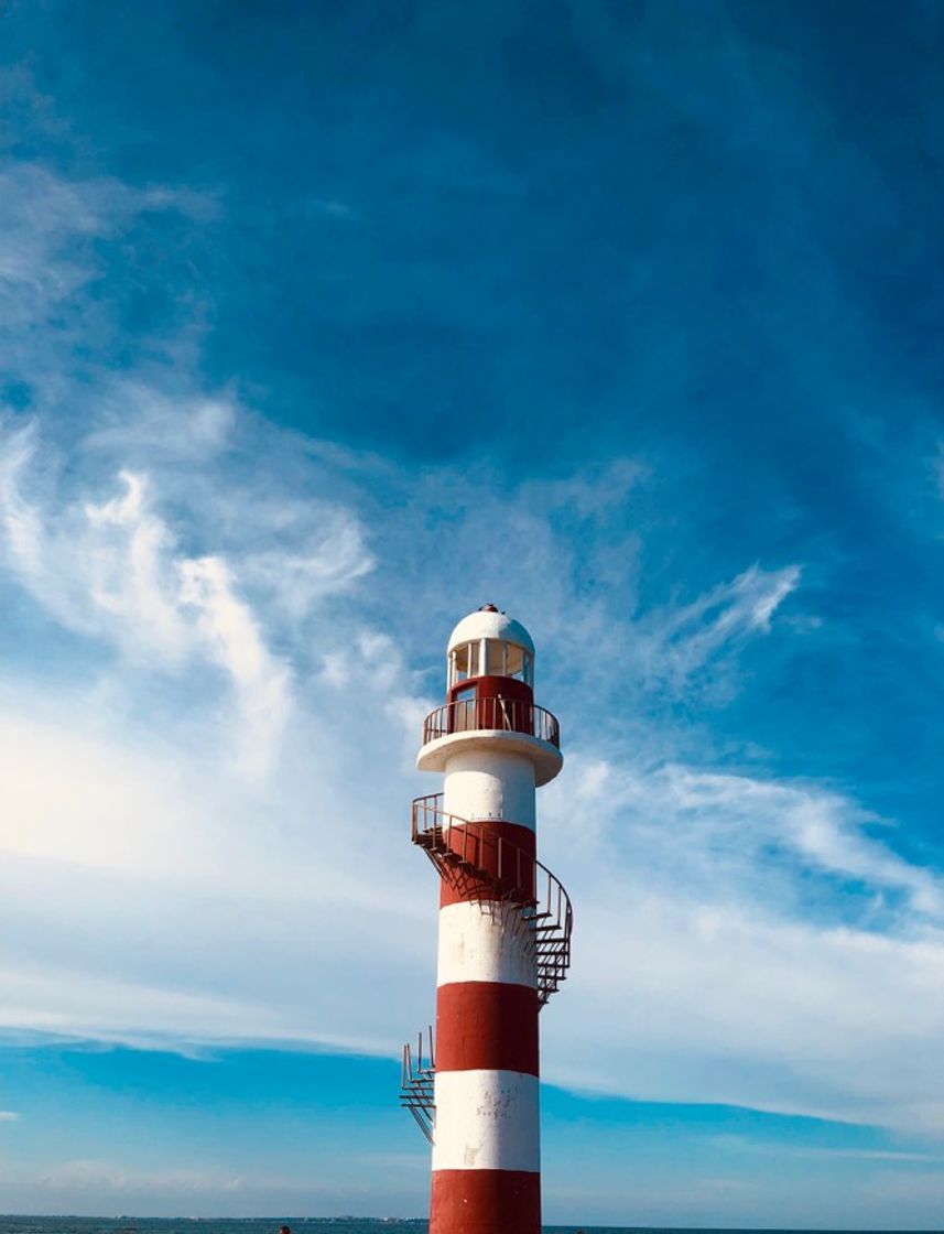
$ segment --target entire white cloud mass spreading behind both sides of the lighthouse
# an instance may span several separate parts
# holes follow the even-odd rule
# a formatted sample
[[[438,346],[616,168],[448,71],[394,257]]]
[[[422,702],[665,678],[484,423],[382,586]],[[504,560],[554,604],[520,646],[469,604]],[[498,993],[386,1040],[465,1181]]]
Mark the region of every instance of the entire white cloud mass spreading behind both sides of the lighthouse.
[[[639,691],[735,689],[800,566],[640,610],[636,460],[506,491],[485,468],[306,444],[185,363],[70,379],[56,347],[109,328],[63,310],[68,337],[47,337],[95,273],[86,241],[147,202],[202,206],[36,168],[4,183],[0,295],[41,397],[2,424],[2,585],[75,647],[57,674],[37,634],[0,676],[0,1023],[392,1053],[433,997],[407,802],[432,787],[411,758],[442,689],[434,631],[496,598],[582,733],[542,800],[578,912],[549,1077],[944,1128],[939,874],[834,789],[668,759],[675,732],[633,711]],[[624,677],[637,694],[601,719]]]

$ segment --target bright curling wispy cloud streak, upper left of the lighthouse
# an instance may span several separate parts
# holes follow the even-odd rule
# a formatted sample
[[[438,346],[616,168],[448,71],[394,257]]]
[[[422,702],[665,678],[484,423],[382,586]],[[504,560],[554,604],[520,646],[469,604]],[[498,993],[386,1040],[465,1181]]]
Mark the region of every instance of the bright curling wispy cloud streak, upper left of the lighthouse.
[[[4,448],[5,447],[5,448]],[[39,507],[23,494],[33,426],[0,441],[0,528],[7,560],[64,624],[168,671],[218,664],[242,718],[242,764],[264,769],[291,712],[291,675],[218,557],[188,558],[154,508],[144,475],[121,471],[105,501]]]

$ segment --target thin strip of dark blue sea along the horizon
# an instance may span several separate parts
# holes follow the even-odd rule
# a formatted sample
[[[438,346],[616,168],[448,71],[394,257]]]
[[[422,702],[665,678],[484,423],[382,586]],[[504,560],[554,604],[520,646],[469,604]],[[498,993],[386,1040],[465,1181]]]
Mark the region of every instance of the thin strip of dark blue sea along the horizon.
[[[0,1234],[279,1234],[289,1222],[294,1234],[428,1234],[421,1220],[371,1220],[355,1217],[0,1217]],[[545,1225],[544,1234],[705,1234],[705,1230],[650,1225]],[[758,1234],[756,1230],[712,1229],[711,1234]],[[779,1229],[776,1234],[801,1234]],[[802,1234],[817,1234],[805,1230]],[[818,1234],[828,1234],[821,1230]],[[855,1232],[844,1232],[855,1234]],[[887,1230],[886,1234],[895,1234]]]

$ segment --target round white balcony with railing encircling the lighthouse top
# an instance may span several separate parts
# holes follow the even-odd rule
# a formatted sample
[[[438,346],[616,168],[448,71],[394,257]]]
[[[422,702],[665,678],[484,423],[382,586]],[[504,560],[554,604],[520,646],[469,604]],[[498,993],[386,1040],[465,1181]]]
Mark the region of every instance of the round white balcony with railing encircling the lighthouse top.
[[[560,770],[560,726],[557,716],[522,698],[462,698],[444,703],[423,721],[421,771],[444,771],[459,747],[523,754],[534,763],[536,784]]]

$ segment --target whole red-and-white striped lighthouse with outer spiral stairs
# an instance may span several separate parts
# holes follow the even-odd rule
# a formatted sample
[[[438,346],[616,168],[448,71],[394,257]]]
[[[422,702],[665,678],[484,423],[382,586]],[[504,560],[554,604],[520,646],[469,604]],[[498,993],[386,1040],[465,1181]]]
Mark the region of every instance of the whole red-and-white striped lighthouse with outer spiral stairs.
[[[401,1102],[432,1143],[429,1234],[540,1234],[538,1014],[570,964],[573,912],[537,855],[536,790],[560,732],[534,702],[534,644],[495,605],[447,648],[423,723],[412,840],[439,874],[436,1029],[404,1050]]]

